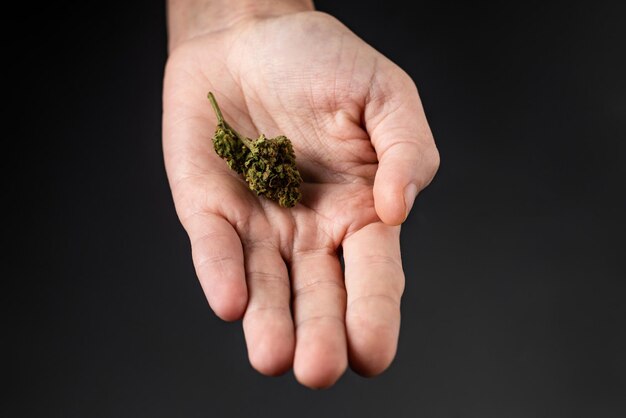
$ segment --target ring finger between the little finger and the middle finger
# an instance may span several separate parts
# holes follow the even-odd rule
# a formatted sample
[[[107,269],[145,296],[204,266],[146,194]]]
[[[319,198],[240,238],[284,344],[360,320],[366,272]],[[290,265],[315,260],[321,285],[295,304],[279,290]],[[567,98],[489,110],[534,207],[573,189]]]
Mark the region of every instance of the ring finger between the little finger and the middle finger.
[[[245,245],[249,303],[243,318],[250,364],[259,372],[279,375],[291,368],[295,334],[287,266],[271,245]]]

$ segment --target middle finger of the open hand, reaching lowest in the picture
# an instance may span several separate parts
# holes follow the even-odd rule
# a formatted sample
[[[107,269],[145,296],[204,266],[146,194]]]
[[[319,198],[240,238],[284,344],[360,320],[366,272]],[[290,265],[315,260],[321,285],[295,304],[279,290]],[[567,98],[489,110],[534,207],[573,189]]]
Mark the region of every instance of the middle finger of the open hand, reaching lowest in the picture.
[[[296,325],[294,374],[305,386],[331,386],[348,364],[341,265],[337,256],[327,251],[299,252],[292,259],[291,279]]]

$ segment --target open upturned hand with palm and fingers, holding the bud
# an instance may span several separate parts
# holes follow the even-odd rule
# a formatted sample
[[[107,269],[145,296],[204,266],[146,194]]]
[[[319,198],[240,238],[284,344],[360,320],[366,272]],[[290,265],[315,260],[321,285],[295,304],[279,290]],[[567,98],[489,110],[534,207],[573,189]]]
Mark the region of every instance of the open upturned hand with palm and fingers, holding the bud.
[[[215,154],[209,90],[239,132],[292,140],[296,207],[257,197]],[[387,368],[404,288],[398,225],[439,164],[411,79],[328,15],[242,19],[174,48],[163,126],[200,283],[220,318],[243,316],[252,366],[293,366],[310,387],[348,362]]]

